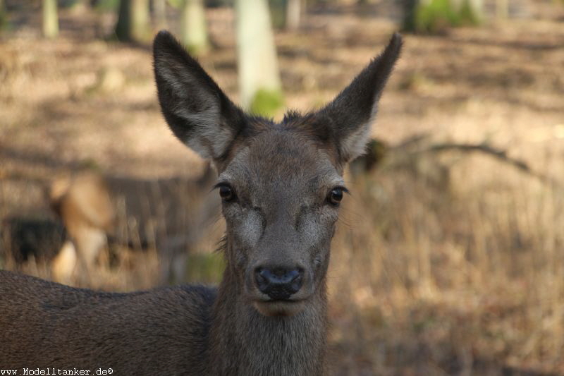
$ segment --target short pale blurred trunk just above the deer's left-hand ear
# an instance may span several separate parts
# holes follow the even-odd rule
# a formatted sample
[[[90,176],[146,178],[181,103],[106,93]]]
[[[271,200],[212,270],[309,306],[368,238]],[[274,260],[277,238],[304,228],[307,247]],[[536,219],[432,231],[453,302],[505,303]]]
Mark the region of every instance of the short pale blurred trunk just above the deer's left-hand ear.
[[[183,0],[180,39],[190,54],[200,55],[209,47],[203,0]]]

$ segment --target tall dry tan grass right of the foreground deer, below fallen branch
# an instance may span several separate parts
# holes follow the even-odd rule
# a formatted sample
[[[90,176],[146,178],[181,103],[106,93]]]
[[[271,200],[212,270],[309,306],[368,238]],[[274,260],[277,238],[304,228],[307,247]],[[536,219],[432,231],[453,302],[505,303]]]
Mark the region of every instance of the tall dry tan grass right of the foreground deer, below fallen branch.
[[[563,190],[467,159],[451,172],[498,172],[479,188],[412,166],[357,183],[331,274],[343,374],[563,372]]]

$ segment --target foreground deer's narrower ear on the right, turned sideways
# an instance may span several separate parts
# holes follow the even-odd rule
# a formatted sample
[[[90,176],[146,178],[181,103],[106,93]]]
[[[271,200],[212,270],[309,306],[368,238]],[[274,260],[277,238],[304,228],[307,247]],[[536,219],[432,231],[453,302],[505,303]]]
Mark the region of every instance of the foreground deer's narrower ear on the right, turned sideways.
[[[372,60],[333,102],[317,113],[323,119],[324,127],[330,128],[341,164],[364,154],[378,100],[400,56],[401,46],[401,36],[396,33],[384,52]]]

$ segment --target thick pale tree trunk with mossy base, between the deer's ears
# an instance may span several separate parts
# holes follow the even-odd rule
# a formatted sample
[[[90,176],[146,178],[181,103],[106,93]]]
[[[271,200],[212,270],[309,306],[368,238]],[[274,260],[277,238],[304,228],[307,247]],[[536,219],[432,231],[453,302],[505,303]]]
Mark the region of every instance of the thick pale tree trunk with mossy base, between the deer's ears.
[[[266,0],[236,0],[240,102],[271,115],[281,107],[276,46]]]

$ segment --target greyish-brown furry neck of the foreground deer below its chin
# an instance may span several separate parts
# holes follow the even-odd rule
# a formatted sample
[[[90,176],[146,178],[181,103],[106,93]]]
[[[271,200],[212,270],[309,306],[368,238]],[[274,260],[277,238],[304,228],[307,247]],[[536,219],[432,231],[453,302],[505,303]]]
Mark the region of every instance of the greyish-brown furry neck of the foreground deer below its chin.
[[[210,375],[324,375],[326,300],[324,279],[300,313],[266,317],[228,265],[212,311]]]

